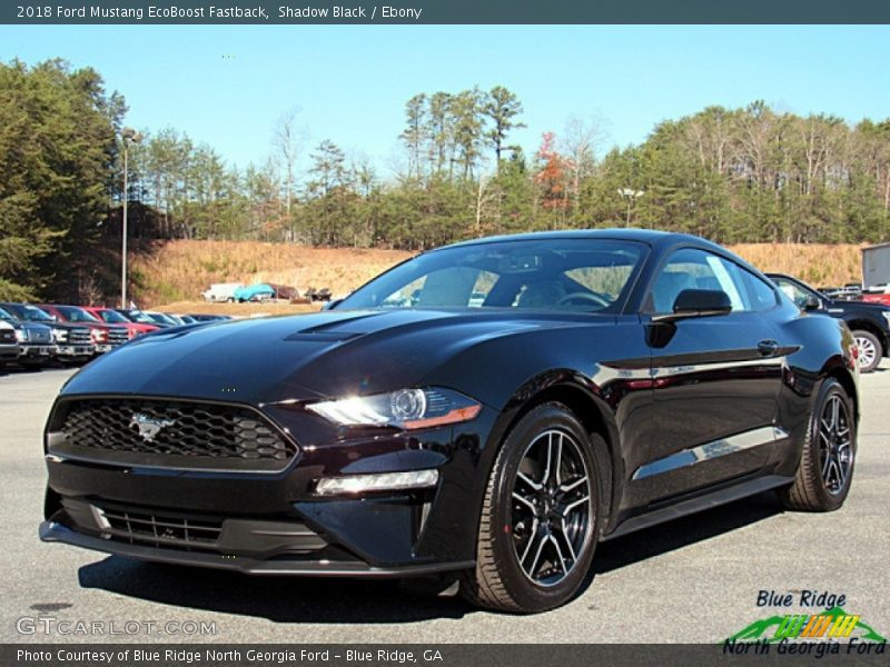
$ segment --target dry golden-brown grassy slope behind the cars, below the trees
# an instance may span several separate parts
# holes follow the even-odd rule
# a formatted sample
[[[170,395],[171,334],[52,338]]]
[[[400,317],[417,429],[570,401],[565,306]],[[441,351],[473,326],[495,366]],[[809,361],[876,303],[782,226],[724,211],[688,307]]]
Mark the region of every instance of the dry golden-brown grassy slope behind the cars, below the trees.
[[[798,276],[814,286],[844,285],[861,275],[856,245],[746,243],[731,249],[764,271]],[[211,282],[276,282],[300,291],[328,288],[345,295],[411,257],[399,250],[310,248],[255,241],[171,241],[132,260],[140,306],[175,312],[199,310],[246,315],[315,309],[291,305],[206,305],[200,292]]]

